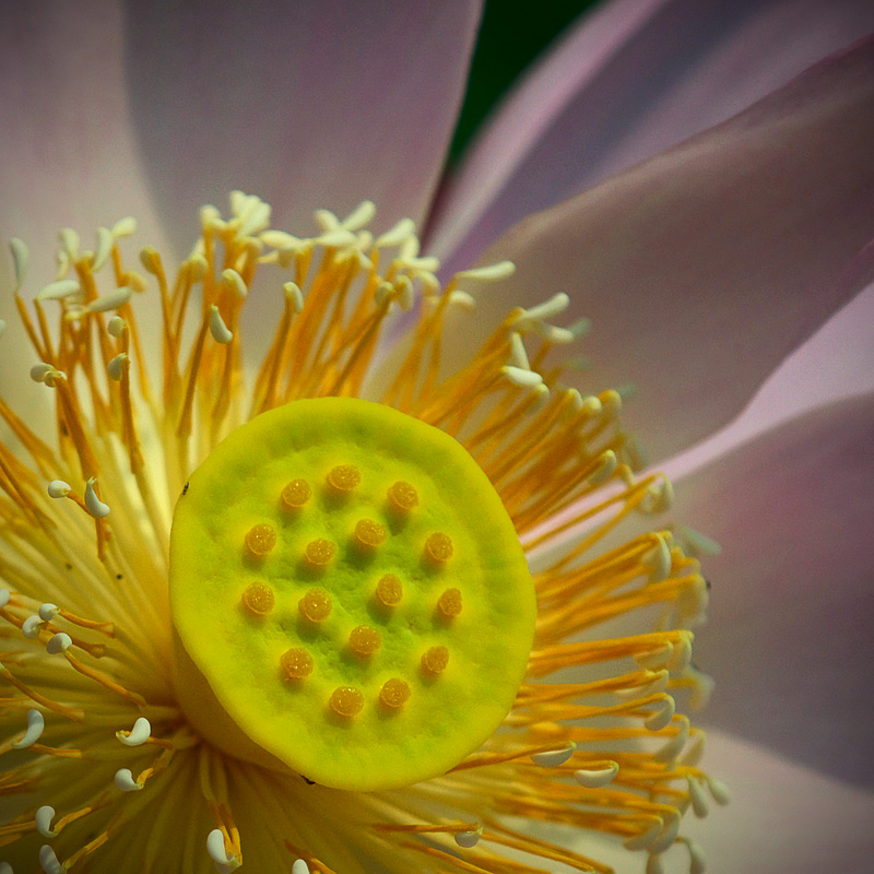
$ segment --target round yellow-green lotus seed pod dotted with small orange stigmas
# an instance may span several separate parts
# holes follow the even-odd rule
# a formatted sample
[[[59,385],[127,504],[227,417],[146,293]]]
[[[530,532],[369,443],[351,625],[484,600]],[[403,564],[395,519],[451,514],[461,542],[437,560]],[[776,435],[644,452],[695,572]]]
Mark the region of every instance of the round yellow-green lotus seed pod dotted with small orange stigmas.
[[[489,737],[536,613],[512,522],[470,454],[347,398],[264,413],[191,475],[170,607],[255,743],[354,790],[444,773]]]

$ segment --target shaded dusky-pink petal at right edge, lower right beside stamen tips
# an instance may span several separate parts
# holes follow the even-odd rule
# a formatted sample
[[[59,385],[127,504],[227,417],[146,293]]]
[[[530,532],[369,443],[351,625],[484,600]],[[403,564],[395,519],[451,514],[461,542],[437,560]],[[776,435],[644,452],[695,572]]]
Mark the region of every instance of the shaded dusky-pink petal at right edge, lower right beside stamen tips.
[[[795,418],[677,486],[673,516],[722,554],[695,661],[704,720],[874,784],[874,394]]]

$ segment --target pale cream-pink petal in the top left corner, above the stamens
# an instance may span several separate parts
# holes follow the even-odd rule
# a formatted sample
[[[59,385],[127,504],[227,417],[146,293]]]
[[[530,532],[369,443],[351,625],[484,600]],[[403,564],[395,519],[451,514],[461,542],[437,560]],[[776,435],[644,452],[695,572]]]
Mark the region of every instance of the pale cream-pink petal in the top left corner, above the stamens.
[[[55,279],[57,232],[70,226],[82,249],[99,225],[133,214],[139,247],[162,247],[139,160],[125,87],[118,3],[13,3],[0,27],[0,387],[36,387],[33,353],[19,330],[11,295],[10,237],[31,248],[24,296]],[[135,259],[138,247],[129,243]],[[10,363],[17,365],[13,368]],[[45,391],[43,395],[45,395]],[[9,397],[7,394],[7,397]]]

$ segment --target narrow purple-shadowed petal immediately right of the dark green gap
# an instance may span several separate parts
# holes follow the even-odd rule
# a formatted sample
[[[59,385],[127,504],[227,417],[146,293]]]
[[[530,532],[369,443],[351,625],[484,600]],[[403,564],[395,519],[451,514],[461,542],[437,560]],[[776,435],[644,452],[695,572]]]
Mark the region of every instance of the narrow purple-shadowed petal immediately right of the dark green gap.
[[[874,31],[866,0],[614,2],[547,56],[440,199],[452,267],[525,215],[705,130]],[[466,239],[465,239],[466,237]]]

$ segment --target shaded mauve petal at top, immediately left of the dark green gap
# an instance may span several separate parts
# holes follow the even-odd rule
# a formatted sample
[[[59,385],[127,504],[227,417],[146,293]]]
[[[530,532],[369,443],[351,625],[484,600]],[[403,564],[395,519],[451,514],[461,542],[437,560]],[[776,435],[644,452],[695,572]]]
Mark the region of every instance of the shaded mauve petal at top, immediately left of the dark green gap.
[[[477,0],[127,3],[127,84],[162,220],[240,188],[302,236],[364,199],[421,220],[463,95]]]

